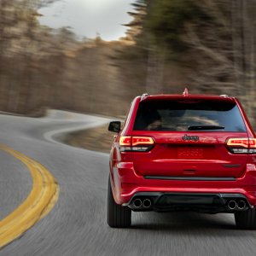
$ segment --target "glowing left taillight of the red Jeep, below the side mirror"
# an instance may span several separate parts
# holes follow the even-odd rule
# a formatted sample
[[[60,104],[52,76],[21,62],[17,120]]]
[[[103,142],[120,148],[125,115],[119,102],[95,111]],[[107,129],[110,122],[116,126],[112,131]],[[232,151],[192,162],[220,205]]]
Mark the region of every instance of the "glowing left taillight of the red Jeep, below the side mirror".
[[[154,147],[154,140],[152,137],[138,137],[138,136],[122,136],[119,139],[121,151],[140,151],[147,152]]]

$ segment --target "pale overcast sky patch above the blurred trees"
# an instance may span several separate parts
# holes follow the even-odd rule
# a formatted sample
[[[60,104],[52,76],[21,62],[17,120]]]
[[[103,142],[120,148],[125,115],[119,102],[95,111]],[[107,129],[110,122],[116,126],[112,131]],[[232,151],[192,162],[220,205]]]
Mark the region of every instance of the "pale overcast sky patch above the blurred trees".
[[[134,0],[59,0],[38,12],[42,25],[52,28],[71,26],[80,38],[96,38],[99,34],[106,41],[125,36],[126,27],[132,18]]]

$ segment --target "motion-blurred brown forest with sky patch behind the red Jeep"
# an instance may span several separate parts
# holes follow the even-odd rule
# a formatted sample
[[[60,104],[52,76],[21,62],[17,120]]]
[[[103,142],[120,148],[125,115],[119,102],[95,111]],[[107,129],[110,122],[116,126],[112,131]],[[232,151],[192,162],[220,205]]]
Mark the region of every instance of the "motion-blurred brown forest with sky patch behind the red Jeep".
[[[253,0],[0,0],[0,110],[122,117],[145,92],[237,96],[256,125]]]

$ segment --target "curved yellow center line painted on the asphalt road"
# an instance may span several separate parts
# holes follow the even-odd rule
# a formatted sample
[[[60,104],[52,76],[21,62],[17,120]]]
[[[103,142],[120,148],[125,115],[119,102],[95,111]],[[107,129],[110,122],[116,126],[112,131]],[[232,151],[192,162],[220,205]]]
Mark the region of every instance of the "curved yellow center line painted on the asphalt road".
[[[20,237],[55,206],[59,186],[55,177],[37,161],[0,144],[0,149],[22,161],[32,175],[32,190],[19,207],[0,221],[0,248]]]

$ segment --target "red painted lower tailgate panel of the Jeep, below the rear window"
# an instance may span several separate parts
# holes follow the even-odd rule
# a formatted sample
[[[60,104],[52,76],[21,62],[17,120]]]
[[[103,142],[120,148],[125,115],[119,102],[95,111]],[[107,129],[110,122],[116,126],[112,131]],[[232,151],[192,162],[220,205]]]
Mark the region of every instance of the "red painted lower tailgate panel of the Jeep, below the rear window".
[[[133,131],[132,135],[151,136],[155,146],[148,153],[134,152],[132,160],[139,175],[241,177],[246,170],[247,154],[230,154],[225,146],[230,132],[186,132],[199,136],[199,142],[184,142],[184,132]],[[236,133],[247,137],[247,133]],[[224,167],[233,164],[236,167]],[[172,171],[171,171],[172,169]]]

